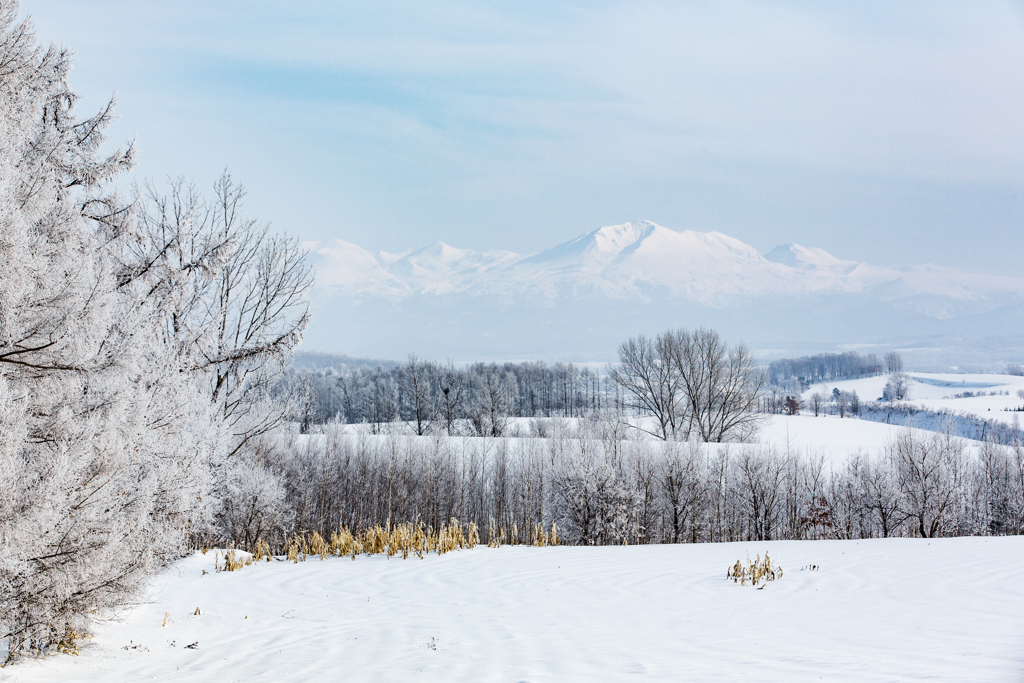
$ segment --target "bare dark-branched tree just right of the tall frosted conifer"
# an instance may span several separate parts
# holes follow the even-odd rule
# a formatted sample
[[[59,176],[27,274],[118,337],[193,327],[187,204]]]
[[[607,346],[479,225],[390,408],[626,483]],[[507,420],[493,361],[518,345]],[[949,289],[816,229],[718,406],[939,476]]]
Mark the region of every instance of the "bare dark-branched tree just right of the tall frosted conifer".
[[[295,239],[245,216],[245,189],[225,171],[210,198],[178,180],[152,185],[124,281],[159,301],[168,338],[208,378],[231,453],[281,424],[270,389],[309,322],[312,275]]]

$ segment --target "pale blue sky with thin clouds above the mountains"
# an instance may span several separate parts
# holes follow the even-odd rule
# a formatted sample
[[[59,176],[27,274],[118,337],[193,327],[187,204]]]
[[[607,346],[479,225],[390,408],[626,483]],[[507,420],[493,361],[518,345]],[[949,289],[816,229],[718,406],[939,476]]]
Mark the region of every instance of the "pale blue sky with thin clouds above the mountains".
[[[854,6],[849,6],[854,5]],[[645,218],[1024,274],[1010,2],[24,0],[141,176],[305,240],[529,252]]]

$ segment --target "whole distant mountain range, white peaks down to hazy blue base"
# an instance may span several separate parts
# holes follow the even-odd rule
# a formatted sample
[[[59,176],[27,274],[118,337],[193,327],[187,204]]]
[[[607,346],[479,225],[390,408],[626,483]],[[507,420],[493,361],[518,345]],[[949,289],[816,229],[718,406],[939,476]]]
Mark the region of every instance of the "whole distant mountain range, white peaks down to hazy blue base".
[[[767,355],[909,346],[949,365],[957,357],[940,356],[957,340],[1013,348],[1006,340],[1024,335],[1022,278],[873,266],[796,244],[759,254],[721,232],[649,221],[535,254],[306,247],[316,317],[305,346],[355,355],[608,360],[639,332],[706,325]],[[1000,360],[979,353],[967,360]]]

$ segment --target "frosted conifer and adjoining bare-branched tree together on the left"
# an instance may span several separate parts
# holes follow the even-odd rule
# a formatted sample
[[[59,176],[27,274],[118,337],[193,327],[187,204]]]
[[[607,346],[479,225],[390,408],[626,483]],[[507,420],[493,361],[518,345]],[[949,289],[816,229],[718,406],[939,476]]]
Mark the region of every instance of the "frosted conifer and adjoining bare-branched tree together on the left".
[[[69,53],[0,0],[0,638],[45,651],[138,594],[280,424],[307,321],[294,240],[184,183],[123,198],[113,103],[79,119]]]

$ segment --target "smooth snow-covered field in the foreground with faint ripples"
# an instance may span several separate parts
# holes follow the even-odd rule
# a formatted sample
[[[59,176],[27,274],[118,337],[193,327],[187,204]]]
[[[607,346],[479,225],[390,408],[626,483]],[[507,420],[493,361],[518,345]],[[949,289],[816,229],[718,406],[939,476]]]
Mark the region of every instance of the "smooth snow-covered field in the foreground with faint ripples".
[[[765,551],[781,580],[725,580]],[[1024,538],[481,547],[203,569],[212,554],[165,570],[80,656],[0,678],[1024,680]]]

